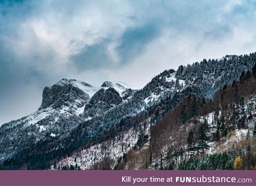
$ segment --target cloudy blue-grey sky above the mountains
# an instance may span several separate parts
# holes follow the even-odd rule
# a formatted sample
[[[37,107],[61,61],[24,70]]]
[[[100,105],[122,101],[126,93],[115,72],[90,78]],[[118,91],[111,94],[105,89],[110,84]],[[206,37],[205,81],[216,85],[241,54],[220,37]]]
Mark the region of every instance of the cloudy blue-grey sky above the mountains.
[[[256,1],[0,0],[0,124],[62,78],[140,89],[165,69],[256,52]]]

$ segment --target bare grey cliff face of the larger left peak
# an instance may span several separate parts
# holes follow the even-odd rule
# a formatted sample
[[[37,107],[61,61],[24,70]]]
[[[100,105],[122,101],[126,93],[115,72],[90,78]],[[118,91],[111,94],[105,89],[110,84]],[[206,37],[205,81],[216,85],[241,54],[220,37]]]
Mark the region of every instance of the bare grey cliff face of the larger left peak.
[[[45,87],[43,90],[43,100],[39,109],[47,107],[59,108],[61,106],[69,107],[71,104],[76,107],[82,107],[90,96],[77,86],[77,83],[83,86],[92,87],[85,82],[78,82],[76,80],[62,79],[52,87]]]

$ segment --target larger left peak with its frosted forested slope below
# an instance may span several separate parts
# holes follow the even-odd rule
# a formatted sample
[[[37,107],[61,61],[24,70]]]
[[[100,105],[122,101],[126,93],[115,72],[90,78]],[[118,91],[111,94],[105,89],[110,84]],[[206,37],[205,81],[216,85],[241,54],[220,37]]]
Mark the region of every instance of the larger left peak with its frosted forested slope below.
[[[45,87],[42,104],[36,112],[1,126],[0,162],[13,157],[22,149],[33,148],[40,141],[51,141],[67,134],[79,123],[63,125],[62,121],[84,113],[85,105],[100,89],[74,79],[62,79],[51,87]],[[125,87],[123,89],[127,90]],[[61,122],[57,124],[59,120]]]

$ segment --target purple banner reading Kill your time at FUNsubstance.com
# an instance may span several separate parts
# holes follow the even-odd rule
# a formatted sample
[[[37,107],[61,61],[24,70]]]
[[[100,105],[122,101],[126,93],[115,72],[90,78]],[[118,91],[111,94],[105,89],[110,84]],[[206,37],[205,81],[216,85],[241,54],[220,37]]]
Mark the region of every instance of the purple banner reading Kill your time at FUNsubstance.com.
[[[255,171],[1,171],[1,185],[255,185]]]

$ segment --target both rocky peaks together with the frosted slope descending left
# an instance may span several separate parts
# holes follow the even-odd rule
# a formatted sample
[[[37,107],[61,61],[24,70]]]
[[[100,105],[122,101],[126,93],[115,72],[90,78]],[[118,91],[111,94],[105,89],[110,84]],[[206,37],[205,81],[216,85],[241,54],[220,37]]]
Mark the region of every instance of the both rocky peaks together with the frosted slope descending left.
[[[0,150],[1,161],[12,157],[26,146],[33,146],[49,134],[50,138],[60,137],[60,133],[55,129],[62,131],[62,133],[69,131],[70,128],[62,128],[62,126],[56,125],[57,121],[59,119],[68,120],[69,117],[74,115],[92,112],[89,105],[95,97],[98,98],[97,103],[101,106],[99,106],[100,110],[94,110],[94,114],[100,115],[114,106],[109,101],[110,99],[113,100],[113,104],[118,105],[123,102],[120,95],[126,94],[126,91],[134,91],[130,86],[124,87],[119,83],[109,81],[108,83],[113,87],[93,87],[83,81],[63,78],[53,86],[45,87],[42,94],[42,104],[36,112],[1,126],[1,134],[5,136],[7,130],[9,131],[8,135],[12,136],[0,140],[0,147],[2,147]],[[115,94],[108,94],[108,92],[115,92]],[[118,97],[119,99],[116,100]],[[109,105],[103,108],[103,102]],[[90,111],[87,111],[87,109]],[[72,125],[72,127],[77,124]],[[55,129],[53,130],[53,128]],[[10,153],[6,153],[6,150]]]

